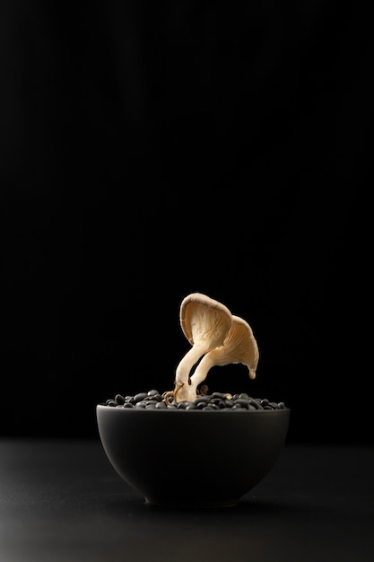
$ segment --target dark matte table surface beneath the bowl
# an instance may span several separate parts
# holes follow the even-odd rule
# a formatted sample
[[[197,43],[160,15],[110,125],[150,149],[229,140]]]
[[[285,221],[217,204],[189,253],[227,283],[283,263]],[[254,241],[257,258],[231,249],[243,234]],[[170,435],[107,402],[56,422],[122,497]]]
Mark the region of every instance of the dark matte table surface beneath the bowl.
[[[145,505],[99,440],[0,441],[1,562],[233,559],[373,562],[374,448],[286,443],[238,505],[179,510]]]

